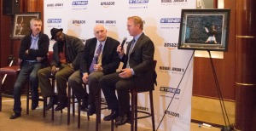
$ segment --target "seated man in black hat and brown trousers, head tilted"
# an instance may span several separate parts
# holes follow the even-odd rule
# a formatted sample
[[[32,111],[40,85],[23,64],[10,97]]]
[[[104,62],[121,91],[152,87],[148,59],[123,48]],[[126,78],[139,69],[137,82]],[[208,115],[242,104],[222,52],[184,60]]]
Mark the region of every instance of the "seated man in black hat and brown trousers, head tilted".
[[[38,71],[39,87],[43,97],[50,97],[46,110],[58,102],[55,111],[61,111],[67,106],[67,78],[79,69],[79,62],[84,50],[84,43],[78,38],[64,34],[63,29],[52,28],[51,39],[55,39],[53,46],[53,60],[50,66]],[[55,76],[58,96],[50,86],[49,78]]]

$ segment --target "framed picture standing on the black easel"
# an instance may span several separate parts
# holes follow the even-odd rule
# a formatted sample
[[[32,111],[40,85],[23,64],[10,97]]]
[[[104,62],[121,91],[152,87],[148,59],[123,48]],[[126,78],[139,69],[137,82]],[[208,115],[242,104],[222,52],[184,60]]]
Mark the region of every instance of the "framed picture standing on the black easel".
[[[178,49],[227,51],[230,9],[182,9]]]

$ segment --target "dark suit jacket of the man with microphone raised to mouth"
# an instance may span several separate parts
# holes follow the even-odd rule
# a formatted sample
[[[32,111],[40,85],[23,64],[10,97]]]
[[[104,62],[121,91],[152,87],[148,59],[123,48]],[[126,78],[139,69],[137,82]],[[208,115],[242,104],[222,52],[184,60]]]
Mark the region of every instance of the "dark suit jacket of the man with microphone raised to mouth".
[[[131,42],[128,43],[126,54],[122,58],[124,62],[123,69],[126,68],[129,49]],[[154,63],[154,43],[149,37],[143,33],[135,44],[130,54],[130,67],[135,72],[132,77],[133,83],[136,83],[136,88],[142,91],[154,89],[155,71],[153,69]]]

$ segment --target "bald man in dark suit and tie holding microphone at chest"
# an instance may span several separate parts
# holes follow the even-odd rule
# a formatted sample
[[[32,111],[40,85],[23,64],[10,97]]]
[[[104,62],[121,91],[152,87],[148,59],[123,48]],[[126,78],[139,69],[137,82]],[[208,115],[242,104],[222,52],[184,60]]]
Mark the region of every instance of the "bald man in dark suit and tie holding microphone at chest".
[[[73,73],[68,79],[73,93],[79,100],[83,100],[82,110],[87,108],[88,115],[96,111],[96,95],[98,95],[99,79],[116,71],[119,67],[119,54],[116,48],[119,42],[112,37],[107,37],[107,30],[102,25],[94,27],[94,38],[86,41],[84,53],[80,62],[80,71]],[[95,63],[94,63],[95,62]],[[87,94],[82,83],[88,83],[89,94]]]

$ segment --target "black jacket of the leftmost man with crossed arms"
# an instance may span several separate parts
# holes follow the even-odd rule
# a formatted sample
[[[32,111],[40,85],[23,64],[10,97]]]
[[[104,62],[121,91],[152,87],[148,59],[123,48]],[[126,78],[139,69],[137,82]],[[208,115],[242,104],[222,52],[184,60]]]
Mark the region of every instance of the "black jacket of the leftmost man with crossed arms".
[[[32,40],[32,32],[29,35],[22,38],[19,49],[19,58],[22,60],[20,65],[22,66],[26,60],[37,60],[37,57],[45,57],[47,58],[47,53],[49,51],[49,37],[44,34],[42,31],[39,33],[38,38],[38,49],[32,49],[31,40]],[[28,50],[28,54],[26,54],[26,50]],[[46,59],[42,60],[43,64],[46,64]]]

